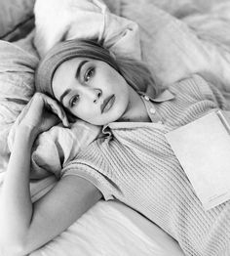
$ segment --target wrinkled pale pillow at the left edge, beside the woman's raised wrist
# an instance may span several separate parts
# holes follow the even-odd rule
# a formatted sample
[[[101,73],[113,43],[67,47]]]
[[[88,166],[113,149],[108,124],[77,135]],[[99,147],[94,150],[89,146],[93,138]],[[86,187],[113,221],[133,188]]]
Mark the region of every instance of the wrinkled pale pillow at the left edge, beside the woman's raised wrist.
[[[9,160],[7,137],[19,112],[34,93],[38,59],[17,45],[0,40],[0,173]]]

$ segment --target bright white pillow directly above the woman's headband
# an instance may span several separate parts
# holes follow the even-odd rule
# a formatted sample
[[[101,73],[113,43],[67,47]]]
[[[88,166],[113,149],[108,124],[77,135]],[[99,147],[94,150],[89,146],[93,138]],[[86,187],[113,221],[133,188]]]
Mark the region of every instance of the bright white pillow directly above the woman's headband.
[[[37,0],[34,14],[40,56],[59,41],[96,38],[115,53],[140,59],[137,24],[111,14],[100,0]]]

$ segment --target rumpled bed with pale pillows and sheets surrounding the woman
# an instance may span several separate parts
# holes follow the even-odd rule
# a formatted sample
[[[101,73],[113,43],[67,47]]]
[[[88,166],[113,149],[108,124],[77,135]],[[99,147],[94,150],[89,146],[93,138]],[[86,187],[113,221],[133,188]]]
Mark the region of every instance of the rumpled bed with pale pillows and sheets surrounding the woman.
[[[4,0],[0,12],[0,185],[17,118],[34,93],[39,56],[60,39],[102,36],[115,53],[126,51],[147,62],[157,83],[168,85],[198,72],[229,97],[227,0]],[[117,20],[113,14],[125,20]],[[54,166],[51,163],[49,167]],[[32,200],[57,182],[57,175],[35,168],[31,172]],[[184,254],[173,237],[133,209],[119,201],[100,200],[65,232],[30,255]]]

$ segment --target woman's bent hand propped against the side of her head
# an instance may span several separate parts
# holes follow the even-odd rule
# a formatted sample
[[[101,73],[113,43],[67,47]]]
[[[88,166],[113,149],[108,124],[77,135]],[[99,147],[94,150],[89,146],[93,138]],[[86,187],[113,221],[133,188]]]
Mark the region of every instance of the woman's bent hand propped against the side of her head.
[[[67,116],[58,102],[42,93],[35,93],[21,112],[19,126],[29,127],[36,135],[58,124],[69,126]]]

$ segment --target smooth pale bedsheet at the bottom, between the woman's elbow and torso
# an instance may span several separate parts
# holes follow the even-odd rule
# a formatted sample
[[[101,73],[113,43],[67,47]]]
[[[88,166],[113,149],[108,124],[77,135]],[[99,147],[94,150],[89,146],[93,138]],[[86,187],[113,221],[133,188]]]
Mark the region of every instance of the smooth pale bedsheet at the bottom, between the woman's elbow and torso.
[[[30,256],[183,256],[177,242],[126,205],[99,201]]]

